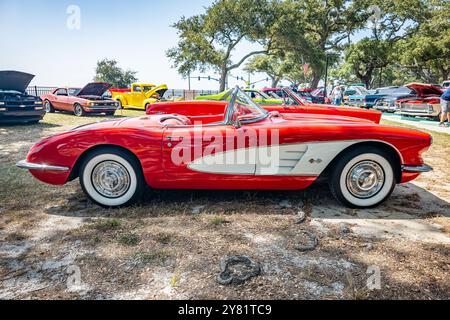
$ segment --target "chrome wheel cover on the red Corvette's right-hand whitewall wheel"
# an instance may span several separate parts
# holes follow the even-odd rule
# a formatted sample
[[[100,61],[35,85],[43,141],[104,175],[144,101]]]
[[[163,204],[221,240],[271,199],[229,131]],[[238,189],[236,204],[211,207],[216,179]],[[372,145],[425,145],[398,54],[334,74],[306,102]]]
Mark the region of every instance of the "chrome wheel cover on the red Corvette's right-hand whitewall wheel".
[[[384,182],[384,170],[374,161],[363,161],[354,165],[346,179],[348,191],[360,199],[375,196],[383,188]]]

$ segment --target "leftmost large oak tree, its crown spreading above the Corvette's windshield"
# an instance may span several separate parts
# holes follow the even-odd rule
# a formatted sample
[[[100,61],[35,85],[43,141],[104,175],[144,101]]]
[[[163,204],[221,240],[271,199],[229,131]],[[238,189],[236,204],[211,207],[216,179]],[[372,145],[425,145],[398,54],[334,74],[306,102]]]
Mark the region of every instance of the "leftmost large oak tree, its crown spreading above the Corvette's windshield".
[[[180,37],[177,47],[167,56],[183,76],[195,70],[212,69],[220,74],[220,90],[225,90],[227,76],[251,56],[268,53],[275,19],[273,3],[267,0],[217,0],[203,14],[182,17],[174,24]],[[260,50],[234,56],[244,40],[258,43]]]

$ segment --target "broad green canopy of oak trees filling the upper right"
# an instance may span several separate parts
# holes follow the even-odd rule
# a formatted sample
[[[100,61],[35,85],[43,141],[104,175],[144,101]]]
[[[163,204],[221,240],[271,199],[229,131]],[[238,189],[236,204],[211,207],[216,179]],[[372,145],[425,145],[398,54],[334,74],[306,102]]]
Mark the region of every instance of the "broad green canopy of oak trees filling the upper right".
[[[216,0],[174,27],[179,43],[167,52],[174,67],[184,76],[213,70],[220,89],[245,62],[273,85],[289,79],[316,87],[327,61],[333,76],[367,87],[436,83],[450,73],[450,1]],[[237,52],[243,41],[261,49]]]

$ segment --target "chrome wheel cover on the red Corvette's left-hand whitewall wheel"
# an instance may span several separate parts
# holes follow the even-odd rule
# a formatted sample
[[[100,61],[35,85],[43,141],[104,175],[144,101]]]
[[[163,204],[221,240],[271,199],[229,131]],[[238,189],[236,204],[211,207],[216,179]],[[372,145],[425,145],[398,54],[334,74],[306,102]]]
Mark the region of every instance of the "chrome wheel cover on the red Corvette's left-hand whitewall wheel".
[[[99,163],[91,175],[95,190],[107,198],[120,198],[128,192],[131,177],[128,170],[116,161]]]

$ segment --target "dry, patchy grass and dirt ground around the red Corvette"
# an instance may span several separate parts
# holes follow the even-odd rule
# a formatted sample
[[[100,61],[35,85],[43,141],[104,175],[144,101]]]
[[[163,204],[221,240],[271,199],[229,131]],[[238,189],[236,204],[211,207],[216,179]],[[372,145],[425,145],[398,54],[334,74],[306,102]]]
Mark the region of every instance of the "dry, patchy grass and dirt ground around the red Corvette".
[[[434,172],[371,210],[343,208],[325,183],[151,191],[139,206],[104,210],[78,181],[48,186],[15,168],[40,138],[97,120],[50,114],[0,127],[0,299],[450,298],[448,135],[432,133]],[[304,231],[318,238],[315,250],[296,249]],[[232,255],[260,263],[261,275],[219,285]]]

